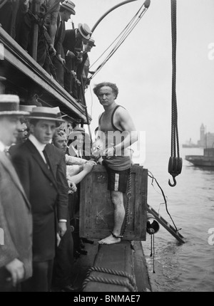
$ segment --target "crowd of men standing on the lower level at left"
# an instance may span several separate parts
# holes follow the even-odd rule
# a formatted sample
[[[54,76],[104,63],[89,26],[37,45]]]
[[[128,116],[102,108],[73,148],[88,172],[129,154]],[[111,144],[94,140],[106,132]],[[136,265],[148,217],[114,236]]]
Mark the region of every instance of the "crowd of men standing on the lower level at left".
[[[78,290],[71,221],[79,203],[71,196],[96,162],[84,159],[83,129],[70,134],[81,141],[69,154],[58,114],[58,107],[19,107],[18,96],[0,95],[0,292]]]

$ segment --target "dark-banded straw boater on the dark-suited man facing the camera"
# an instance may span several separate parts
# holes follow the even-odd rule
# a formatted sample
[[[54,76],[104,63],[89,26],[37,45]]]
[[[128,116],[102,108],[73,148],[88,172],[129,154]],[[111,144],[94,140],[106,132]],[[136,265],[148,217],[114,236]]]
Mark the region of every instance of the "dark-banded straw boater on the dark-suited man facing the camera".
[[[34,107],[29,119],[39,119],[39,120],[52,120],[58,123],[64,122],[64,120],[58,117],[58,110],[56,107]]]

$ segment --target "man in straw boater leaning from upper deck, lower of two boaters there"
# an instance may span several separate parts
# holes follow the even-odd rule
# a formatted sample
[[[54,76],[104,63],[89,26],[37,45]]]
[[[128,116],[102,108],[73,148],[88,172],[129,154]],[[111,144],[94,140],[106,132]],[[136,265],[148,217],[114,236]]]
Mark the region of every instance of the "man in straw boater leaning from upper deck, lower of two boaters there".
[[[63,49],[66,55],[66,71],[64,75],[65,90],[78,98],[76,86],[76,71],[78,65],[83,61],[83,43],[86,43],[91,37],[91,29],[86,23],[78,23],[78,28],[66,30],[66,36],[63,40]],[[71,71],[73,74],[71,74]]]

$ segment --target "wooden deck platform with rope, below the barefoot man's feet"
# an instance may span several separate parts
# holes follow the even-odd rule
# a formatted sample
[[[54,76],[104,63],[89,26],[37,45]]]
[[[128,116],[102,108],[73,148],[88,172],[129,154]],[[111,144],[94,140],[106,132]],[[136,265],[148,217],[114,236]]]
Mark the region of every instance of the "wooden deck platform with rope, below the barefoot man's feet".
[[[97,239],[93,241],[93,244],[85,244],[88,254],[76,260],[73,271],[76,287],[84,292],[152,291],[141,241],[122,241],[111,246],[100,246]],[[97,271],[92,268],[88,273],[91,267]],[[109,270],[113,274],[105,273]],[[123,275],[119,275],[121,272]],[[132,285],[131,278],[134,280]]]

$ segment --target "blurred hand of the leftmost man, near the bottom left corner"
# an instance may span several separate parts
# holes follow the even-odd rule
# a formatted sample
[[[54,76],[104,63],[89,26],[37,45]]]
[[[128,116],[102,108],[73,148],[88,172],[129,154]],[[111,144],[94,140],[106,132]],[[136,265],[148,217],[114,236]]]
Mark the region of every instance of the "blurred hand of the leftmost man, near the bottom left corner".
[[[21,263],[19,259],[14,259],[11,263],[6,265],[6,270],[11,273],[11,278],[8,278],[7,281],[12,280],[14,287],[24,279],[24,263]]]

